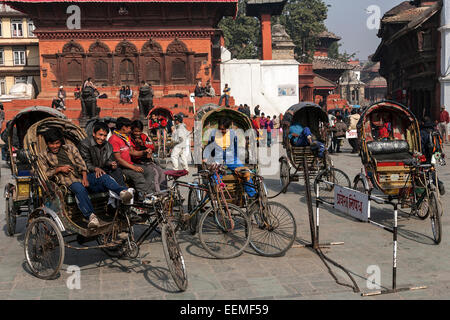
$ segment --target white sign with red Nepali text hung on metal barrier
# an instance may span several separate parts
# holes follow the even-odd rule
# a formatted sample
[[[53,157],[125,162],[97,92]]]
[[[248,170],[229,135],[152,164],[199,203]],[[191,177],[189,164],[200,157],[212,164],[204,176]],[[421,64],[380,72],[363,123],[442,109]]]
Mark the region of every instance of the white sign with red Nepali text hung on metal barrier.
[[[334,208],[358,220],[369,220],[369,197],[356,190],[335,185]]]

